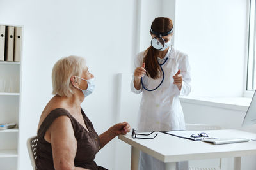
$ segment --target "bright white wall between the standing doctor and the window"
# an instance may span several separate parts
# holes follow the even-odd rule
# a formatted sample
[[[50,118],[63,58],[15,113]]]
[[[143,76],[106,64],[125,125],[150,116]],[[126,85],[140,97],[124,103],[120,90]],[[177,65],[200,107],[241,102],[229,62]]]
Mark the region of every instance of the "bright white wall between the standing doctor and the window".
[[[175,47],[188,53],[191,96],[243,95],[248,1],[176,1]]]

